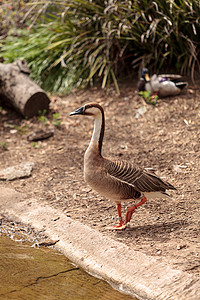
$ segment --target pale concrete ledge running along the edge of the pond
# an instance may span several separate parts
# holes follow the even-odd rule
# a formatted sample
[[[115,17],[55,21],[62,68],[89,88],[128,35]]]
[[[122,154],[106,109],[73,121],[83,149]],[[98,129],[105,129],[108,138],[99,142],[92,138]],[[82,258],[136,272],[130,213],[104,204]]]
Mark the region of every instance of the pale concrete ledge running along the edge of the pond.
[[[44,229],[72,262],[140,299],[200,299],[200,279],[175,270],[13,189],[2,188],[0,212]]]

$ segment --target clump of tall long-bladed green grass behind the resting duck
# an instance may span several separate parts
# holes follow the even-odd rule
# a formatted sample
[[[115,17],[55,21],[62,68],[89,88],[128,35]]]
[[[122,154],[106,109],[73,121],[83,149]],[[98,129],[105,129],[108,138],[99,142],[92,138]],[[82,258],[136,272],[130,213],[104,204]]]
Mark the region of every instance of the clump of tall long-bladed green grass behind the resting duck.
[[[52,4],[53,3],[53,4]],[[119,79],[150,66],[178,72],[200,70],[200,2],[182,0],[63,0],[34,2],[41,16],[30,29],[8,36],[6,62],[20,57],[32,76],[51,92]],[[27,13],[28,15],[28,13]],[[28,22],[28,20],[26,20]],[[15,33],[16,35],[16,33]]]

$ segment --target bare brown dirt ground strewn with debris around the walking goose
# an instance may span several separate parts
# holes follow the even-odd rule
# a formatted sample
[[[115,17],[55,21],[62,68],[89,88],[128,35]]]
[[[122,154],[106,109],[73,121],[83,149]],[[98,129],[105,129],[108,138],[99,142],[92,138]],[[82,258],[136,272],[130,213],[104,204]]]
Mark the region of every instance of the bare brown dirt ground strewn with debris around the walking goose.
[[[31,177],[0,181],[0,187],[14,188],[41,202],[48,200],[67,216],[136,251],[156,256],[175,268],[200,273],[199,85],[190,85],[183,95],[160,99],[156,106],[146,104],[133,83],[122,85],[120,96],[114,89],[106,94],[93,88],[67,97],[52,96],[51,100],[46,120],[25,120],[6,108],[0,111],[0,169],[35,163]],[[92,191],[83,179],[83,156],[93,121],[68,114],[87,102],[98,102],[105,109],[106,157],[153,167],[177,188],[173,200],[147,201],[134,213],[125,231],[106,229],[117,222],[115,204]],[[143,106],[146,112],[138,115],[138,108]],[[60,126],[53,125],[55,112],[61,113]],[[29,142],[27,136],[40,128],[54,128],[54,136]],[[123,214],[126,208],[124,204]]]

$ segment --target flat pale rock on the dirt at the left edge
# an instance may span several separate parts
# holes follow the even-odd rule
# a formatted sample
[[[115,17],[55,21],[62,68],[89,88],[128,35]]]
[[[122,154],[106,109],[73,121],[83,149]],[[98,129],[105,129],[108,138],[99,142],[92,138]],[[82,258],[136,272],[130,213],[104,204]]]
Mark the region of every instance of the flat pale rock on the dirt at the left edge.
[[[33,167],[33,162],[26,162],[0,170],[0,180],[14,180],[29,177]]]

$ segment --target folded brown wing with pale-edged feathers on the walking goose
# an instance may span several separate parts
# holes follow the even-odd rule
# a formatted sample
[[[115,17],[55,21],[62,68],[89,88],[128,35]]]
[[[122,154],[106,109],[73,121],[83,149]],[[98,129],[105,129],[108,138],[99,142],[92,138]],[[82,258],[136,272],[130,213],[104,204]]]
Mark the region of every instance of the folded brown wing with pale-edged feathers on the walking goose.
[[[167,189],[175,189],[155,174],[135,167],[127,161],[110,161],[107,172],[110,176],[131,185],[139,192],[165,192]]]

